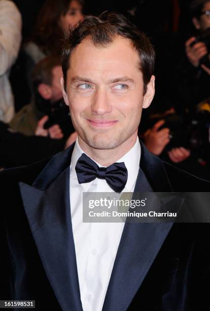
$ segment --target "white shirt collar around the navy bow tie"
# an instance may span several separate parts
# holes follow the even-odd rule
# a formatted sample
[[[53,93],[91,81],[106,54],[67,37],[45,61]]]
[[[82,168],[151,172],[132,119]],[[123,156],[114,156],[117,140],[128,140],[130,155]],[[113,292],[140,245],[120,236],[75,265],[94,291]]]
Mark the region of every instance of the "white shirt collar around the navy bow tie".
[[[77,161],[81,157],[82,153],[85,153],[85,152],[80,147],[79,142],[78,142],[78,138],[77,138],[76,143],[75,143],[75,147],[74,147],[74,150],[72,153],[72,160],[71,160],[71,166],[70,166],[70,174],[71,174],[72,178],[77,179],[77,173],[75,171],[75,167],[76,167]],[[127,171],[128,171],[128,179],[127,179],[127,182],[126,182],[126,185],[125,185],[123,192],[130,192],[132,190],[132,187],[133,187],[133,185],[136,181],[137,175],[138,175],[140,158],[141,158],[141,145],[140,145],[138,137],[137,137],[134,146],[126,154],[124,154],[122,158],[120,158],[119,160],[116,161],[118,163],[124,162],[125,166],[127,168]],[[100,165],[99,163],[97,163],[97,162],[95,162],[95,163],[99,167],[102,167],[102,165]],[[93,181],[81,184],[85,192],[88,191],[92,182]]]

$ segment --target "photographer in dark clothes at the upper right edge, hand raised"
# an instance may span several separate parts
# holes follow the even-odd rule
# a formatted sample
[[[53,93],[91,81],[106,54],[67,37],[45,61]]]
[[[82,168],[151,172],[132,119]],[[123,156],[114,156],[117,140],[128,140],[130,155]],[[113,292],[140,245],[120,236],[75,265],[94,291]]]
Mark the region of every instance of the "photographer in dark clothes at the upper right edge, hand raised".
[[[194,34],[185,42],[185,56],[179,62],[177,85],[179,101],[190,111],[210,95],[210,1],[194,0],[190,4]]]

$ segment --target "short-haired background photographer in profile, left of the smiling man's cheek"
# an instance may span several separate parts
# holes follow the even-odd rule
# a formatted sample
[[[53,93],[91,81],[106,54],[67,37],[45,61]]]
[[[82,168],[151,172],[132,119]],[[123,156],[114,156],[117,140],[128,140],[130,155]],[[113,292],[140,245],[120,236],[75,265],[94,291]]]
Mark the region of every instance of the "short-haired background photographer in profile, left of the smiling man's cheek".
[[[43,135],[43,132],[36,130],[39,122],[43,125],[43,131],[47,131],[53,125],[59,125],[64,138],[74,131],[62,100],[61,76],[59,57],[46,57],[38,63],[32,76],[34,98],[32,103],[24,106],[10,122],[13,130],[26,136]]]

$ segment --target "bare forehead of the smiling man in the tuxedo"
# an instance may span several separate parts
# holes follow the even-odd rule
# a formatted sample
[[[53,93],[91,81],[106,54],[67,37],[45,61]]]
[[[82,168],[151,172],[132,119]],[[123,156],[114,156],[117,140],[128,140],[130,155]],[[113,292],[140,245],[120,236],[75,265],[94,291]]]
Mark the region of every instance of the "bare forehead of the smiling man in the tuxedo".
[[[106,47],[93,45],[89,38],[83,40],[72,53],[68,75],[135,76],[139,71],[139,56],[128,39],[117,37]]]

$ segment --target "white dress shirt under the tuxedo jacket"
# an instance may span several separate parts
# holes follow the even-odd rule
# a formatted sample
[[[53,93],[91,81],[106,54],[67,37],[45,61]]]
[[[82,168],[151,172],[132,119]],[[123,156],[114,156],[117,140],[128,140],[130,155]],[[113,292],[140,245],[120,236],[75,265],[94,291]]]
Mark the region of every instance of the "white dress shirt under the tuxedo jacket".
[[[70,203],[80,295],[84,311],[101,311],[124,223],[83,223],[83,192],[114,191],[105,179],[95,178],[91,182],[79,184],[75,166],[82,153],[85,152],[77,140],[70,166]],[[141,146],[137,138],[135,145],[116,161],[124,162],[128,171],[122,192],[133,192],[140,157]]]

